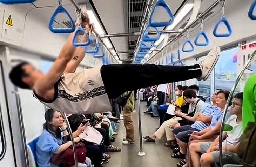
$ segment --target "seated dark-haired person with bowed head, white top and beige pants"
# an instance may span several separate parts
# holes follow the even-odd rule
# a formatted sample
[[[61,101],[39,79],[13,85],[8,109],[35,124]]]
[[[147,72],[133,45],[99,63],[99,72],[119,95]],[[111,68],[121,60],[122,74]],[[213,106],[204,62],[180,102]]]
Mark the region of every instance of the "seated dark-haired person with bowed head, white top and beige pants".
[[[156,138],[161,139],[162,136],[166,134],[166,139],[168,143],[164,144],[164,146],[171,146],[172,148],[176,146],[175,137],[172,132],[175,125],[178,124],[178,121],[182,119],[193,121],[194,115],[200,112],[205,106],[205,103],[196,97],[196,92],[192,89],[185,90],[183,96],[184,99],[187,99],[188,103],[190,103],[188,112],[189,114],[183,114],[180,111],[175,112],[175,117],[168,121],[165,121],[155,132],[154,135],[145,136],[143,137],[144,139],[150,142],[155,142]]]

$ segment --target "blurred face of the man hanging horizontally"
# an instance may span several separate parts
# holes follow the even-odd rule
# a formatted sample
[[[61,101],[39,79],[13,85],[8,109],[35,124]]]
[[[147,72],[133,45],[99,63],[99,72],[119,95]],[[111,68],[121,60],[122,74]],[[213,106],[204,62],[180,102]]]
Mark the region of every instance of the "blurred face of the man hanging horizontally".
[[[41,70],[36,69],[31,64],[24,65],[22,69],[26,74],[26,76],[22,78],[22,81],[28,85],[33,85],[35,81],[43,75]]]

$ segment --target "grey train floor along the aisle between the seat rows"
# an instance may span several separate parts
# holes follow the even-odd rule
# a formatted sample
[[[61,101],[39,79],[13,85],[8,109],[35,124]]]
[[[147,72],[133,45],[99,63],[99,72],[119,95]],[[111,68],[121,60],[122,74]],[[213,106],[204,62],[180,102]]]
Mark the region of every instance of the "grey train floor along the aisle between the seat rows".
[[[140,103],[142,116],[142,136],[150,135],[155,132],[155,128],[159,126],[158,118],[152,118],[150,115],[143,114],[146,111],[146,102]],[[137,101],[135,103],[136,112],[133,113],[133,121],[135,124],[135,144],[123,145],[122,139],[125,137],[125,128],[123,121],[118,124],[118,135],[116,141],[112,144],[121,148],[121,152],[109,153],[111,159],[108,164],[103,167],[176,167],[176,163],[181,159],[171,158],[173,151],[169,147],[164,147],[165,139],[156,141],[155,143],[146,142],[143,139],[143,150],[147,153],[144,157],[139,157],[140,152],[139,140],[139,114]]]

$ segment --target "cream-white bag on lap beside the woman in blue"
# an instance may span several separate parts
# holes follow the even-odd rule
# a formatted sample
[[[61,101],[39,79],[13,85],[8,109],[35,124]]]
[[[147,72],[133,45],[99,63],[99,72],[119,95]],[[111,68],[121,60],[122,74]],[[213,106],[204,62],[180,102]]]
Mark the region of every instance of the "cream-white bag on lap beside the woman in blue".
[[[90,126],[86,127],[86,129],[79,134],[78,137],[85,141],[92,142],[95,145],[100,145],[103,139],[100,132]]]

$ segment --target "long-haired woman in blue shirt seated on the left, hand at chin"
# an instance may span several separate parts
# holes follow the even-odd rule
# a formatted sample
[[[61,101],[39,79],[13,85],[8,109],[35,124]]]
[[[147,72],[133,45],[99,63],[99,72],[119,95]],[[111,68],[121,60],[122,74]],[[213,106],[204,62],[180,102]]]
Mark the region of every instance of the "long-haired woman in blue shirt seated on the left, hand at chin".
[[[43,132],[39,136],[39,140],[36,144],[36,157],[39,167],[54,167],[55,165],[50,163],[50,159],[54,154],[60,154],[67,150],[72,145],[71,141],[63,143],[62,136],[68,135],[66,130],[66,123],[63,120],[59,111],[48,109],[45,112],[45,124],[43,124]],[[78,130],[73,133],[76,143],[80,141],[77,137],[88,124],[84,126],[80,125]],[[88,162],[87,162],[88,161]],[[90,164],[90,159],[86,158],[86,164]],[[85,165],[80,165],[85,166]]]

